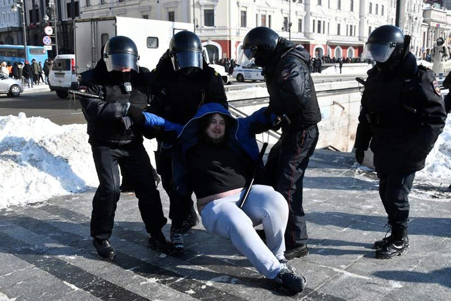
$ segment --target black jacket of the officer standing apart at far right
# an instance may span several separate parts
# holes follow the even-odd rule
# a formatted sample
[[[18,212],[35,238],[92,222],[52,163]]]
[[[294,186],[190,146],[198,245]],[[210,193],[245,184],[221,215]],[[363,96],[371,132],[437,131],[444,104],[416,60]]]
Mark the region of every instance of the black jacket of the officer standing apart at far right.
[[[391,72],[375,66],[368,71],[361,104],[355,147],[367,149],[371,139],[376,170],[424,168],[446,119],[434,73],[417,66],[411,53]]]

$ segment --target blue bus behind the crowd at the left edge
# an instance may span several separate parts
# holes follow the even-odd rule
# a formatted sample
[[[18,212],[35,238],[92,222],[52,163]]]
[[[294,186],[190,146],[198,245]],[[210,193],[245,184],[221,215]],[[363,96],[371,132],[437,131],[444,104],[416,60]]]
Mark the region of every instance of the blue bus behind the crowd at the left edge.
[[[47,50],[42,46],[27,46],[27,56],[25,56],[24,46],[22,45],[0,45],[0,62],[22,62],[31,61],[42,62],[49,58]]]

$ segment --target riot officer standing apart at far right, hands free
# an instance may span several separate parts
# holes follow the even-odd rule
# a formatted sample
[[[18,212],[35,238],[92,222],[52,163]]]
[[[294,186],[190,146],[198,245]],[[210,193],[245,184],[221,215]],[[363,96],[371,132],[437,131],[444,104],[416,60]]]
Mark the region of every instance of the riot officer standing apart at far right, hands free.
[[[362,163],[371,140],[379,195],[391,227],[390,236],[374,243],[381,259],[409,247],[407,196],[446,119],[435,75],[417,66],[409,42],[399,28],[384,25],[370,34],[362,53],[376,66],[368,71],[362,95],[355,155]]]

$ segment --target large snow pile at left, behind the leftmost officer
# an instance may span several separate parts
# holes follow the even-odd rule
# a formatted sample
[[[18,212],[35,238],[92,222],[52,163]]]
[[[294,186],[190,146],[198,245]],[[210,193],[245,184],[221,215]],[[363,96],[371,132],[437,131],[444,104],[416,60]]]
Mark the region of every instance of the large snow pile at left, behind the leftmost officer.
[[[146,148],[155,145],[146,141]],[[0,116],[0,208],[98,184],[86,124],[60,126],[24,113]]]

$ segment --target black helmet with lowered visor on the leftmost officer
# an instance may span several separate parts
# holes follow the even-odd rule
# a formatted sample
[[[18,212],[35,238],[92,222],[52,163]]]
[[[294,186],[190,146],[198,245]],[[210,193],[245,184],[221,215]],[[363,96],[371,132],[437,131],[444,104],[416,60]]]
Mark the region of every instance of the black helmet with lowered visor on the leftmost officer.
[[[103,49],[103,60],[108,72],[123,71],[128,68],[139,72],[138,48],[130,38],[116,36],[109,39]]]

